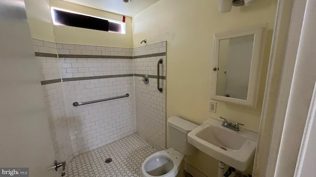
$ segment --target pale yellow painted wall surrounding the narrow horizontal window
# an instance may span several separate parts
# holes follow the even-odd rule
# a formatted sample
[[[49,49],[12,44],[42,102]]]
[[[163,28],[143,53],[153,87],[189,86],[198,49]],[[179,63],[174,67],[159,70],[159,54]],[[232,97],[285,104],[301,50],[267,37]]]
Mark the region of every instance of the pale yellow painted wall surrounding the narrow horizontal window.
[[[126,34],[52,25],[51,7],[121,21],[122,15],[62,0],[25,0],[32,38],[56,43],[132,48],[132,19],[126,17]]]

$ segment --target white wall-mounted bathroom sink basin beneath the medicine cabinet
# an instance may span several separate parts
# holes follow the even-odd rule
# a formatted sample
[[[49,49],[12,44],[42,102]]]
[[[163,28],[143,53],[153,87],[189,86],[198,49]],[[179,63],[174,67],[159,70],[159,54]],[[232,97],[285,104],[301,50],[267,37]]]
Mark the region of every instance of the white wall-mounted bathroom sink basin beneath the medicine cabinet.
[[[209,156],[245,171],[254,158],[257,137],[252,131],[234,131],[209,118],[188,134],[188,141]]]

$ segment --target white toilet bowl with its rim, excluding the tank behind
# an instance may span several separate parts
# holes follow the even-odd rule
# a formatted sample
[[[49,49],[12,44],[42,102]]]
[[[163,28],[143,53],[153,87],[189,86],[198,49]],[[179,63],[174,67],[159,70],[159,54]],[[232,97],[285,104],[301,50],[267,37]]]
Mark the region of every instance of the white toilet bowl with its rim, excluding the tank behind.
[[[184,155],[174,148],[161,150],[147,157],[142,164],[142,177],[175,177]]]

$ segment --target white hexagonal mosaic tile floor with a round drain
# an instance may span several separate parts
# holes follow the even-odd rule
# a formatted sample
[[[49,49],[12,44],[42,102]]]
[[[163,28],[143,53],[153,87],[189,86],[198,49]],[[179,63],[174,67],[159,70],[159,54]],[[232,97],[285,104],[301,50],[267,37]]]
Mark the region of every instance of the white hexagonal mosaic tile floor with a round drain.
[[[156,148],[134,133],[78,155],[67,164],[65,177],[140,177],[143,161],[155,152]]]

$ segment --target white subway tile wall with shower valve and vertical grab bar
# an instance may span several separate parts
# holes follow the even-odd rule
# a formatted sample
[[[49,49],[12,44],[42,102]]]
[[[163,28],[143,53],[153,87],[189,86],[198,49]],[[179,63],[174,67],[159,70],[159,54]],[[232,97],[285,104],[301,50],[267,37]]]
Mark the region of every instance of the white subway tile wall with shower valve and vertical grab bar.
[[[147,45],[134,49],[133,56],[166,52],[166,42]],[[134,60],[134,74],[157,75],[157,63],[160,64],[160,76],[166,76],[166,56],[139,58]],[[157,79],[149,78],[145,85],[142,77],[135,76],[136,125],[137,132],[157,149],[165,149],[166,143],[166,80],[160,79],[160,93]]]

